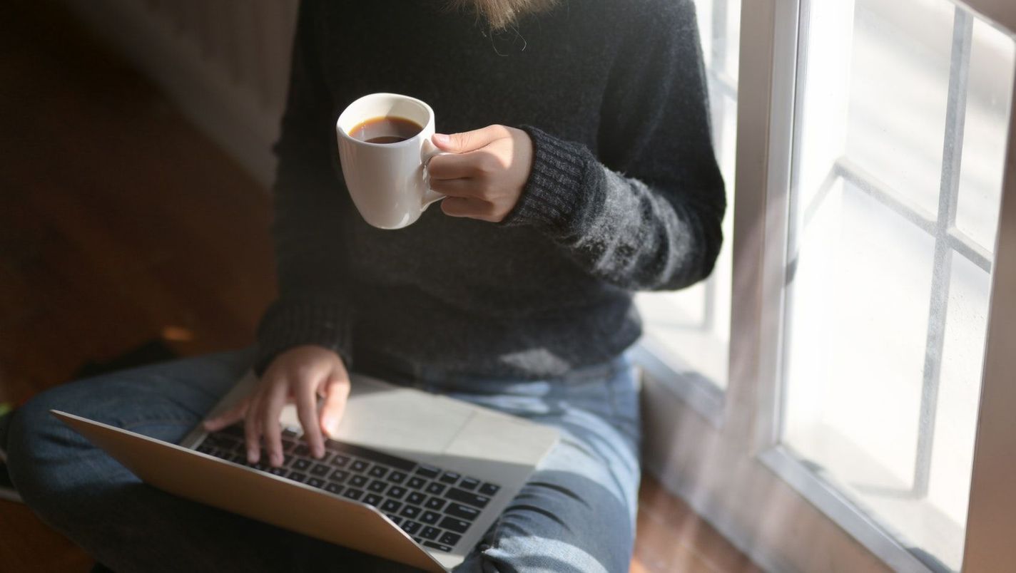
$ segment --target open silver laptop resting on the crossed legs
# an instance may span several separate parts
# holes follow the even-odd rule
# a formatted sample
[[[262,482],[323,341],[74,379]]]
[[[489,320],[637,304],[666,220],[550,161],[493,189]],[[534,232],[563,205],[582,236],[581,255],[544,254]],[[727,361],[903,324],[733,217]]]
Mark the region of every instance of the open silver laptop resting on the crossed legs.
[[[462,401],[351,379],[322,459],[296,409],[283,409],[281,468],[248,464],[239,425],[198,425],[177,445],[52,413],[158,489],[426,571],[461,563],[558,440],[554,428]],[[256,383],[248,372],[210,415]]]

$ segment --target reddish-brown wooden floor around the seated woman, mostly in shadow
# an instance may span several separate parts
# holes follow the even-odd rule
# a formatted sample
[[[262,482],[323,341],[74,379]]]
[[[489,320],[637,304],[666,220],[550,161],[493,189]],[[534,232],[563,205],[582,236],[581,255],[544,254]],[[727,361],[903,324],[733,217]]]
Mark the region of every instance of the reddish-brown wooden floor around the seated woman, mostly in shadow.
[[[0,3],[0,402],[162,338],[238,348],[273,296],[263,189],[150,84],[40,0]],[[646,479],[634,573],[752,572]],[[91,560],[0,501],[0,570]]]

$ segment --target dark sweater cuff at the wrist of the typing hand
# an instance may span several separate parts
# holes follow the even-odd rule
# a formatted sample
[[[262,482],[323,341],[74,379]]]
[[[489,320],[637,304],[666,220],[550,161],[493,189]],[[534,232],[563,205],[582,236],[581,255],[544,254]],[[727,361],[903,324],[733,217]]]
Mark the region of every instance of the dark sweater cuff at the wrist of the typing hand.
[[[260,376],[281,352],[305,344],[332,350],[350,367],[352,312],[348,305],[326,297],[276,300],[258,325],[254,371]]]

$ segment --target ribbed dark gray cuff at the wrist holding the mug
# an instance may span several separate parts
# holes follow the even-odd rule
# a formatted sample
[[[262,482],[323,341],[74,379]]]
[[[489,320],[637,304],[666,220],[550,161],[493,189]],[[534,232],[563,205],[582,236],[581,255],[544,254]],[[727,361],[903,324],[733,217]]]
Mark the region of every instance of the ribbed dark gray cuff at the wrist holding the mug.
[[[584,146],[522,126],[532,139],[532,169],[522,196],[502,225],[531,225],[569,233],[583,211],[584,182],[595,158]]]

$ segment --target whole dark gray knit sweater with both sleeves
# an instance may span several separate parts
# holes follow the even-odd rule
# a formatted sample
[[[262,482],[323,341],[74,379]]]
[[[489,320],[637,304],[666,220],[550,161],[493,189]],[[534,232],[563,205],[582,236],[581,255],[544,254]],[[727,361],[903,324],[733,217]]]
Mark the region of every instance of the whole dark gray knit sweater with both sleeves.
[[[639,337],[633,291],[712,270],[725,201],[691,0],[563,1],[494,33],[443,4],[303,2],[260,368],[316,344],[354,369],[370,356],[449,375],[560,374]],[[429,102],[439,132],[525,129],[532,171],[505,221],[435,205],[400,230],[364,222],[334,123],[375,91]]]

